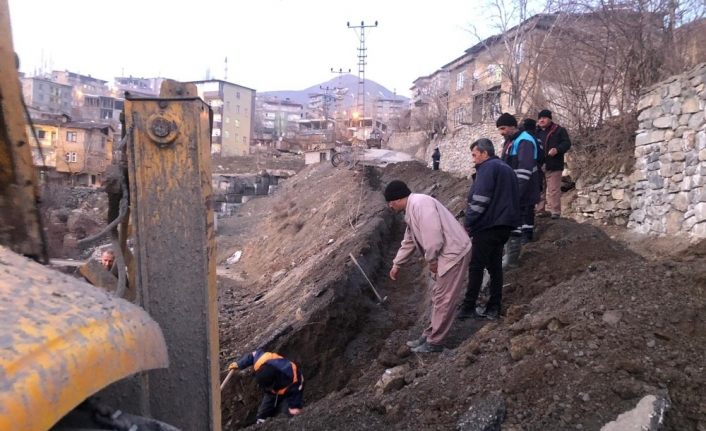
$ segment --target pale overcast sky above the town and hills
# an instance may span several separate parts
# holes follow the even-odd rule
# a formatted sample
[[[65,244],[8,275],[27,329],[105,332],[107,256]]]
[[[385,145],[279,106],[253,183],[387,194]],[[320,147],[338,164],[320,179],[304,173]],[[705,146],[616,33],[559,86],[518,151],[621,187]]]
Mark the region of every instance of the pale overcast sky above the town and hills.
[[[258,91],[301,90],[357,73],[366,29],[366,77],[398,94],[477,42],[482,0],[9,0],[21,70],[223,79]],[[487,31],[486,31],[487,33]],[[483,34],[489,36],[490,34]]]

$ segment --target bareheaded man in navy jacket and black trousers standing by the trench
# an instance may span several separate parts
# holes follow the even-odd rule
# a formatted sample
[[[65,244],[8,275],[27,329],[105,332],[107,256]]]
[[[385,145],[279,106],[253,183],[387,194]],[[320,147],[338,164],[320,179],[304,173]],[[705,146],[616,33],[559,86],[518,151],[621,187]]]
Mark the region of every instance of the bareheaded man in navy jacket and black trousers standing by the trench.
[[[483,271],[490,274],[490,299],[482,314],[489,319],[500,315],[503,289],[503,246],[510,231],[520,224],[519,188],[515,172],[495,156],[493,143],[479,139],[471,144],[476,166],[468,192],[465,226],[471,236],[468,288],[458,315],[475,318],[476,300],[483,283]]]

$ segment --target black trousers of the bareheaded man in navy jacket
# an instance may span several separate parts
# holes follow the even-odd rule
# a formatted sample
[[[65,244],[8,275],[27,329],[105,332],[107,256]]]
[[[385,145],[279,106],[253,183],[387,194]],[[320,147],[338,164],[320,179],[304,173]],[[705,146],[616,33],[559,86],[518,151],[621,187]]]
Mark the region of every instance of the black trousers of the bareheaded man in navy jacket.
[[[509,226],[497,226],[473,234],[464,308],[475,309],[483,284],[483,270],[487,269],[490,274],[490,299],[486,308],[500,310],[503,299],[503,247],[511,230]]]

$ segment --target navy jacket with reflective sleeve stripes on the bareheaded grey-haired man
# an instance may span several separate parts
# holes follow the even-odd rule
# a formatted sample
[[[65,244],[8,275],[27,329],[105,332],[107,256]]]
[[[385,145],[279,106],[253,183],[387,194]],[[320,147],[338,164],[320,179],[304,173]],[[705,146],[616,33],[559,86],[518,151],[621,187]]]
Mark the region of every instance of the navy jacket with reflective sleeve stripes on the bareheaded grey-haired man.
[[[496,226],[522,224],[517,176],[495,156],[476,167],[464,224],[471,236]]]

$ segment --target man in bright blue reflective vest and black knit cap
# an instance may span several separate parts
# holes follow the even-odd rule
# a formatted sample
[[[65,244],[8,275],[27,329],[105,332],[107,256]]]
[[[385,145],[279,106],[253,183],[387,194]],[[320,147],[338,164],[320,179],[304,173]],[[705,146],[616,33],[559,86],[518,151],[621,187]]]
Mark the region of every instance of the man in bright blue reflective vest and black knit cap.
[[[502,159],[515,170],[520,189],[520,214],[522,224],[513,231],[508,241],[506,265],[516,266],[523,243],[534,237],[534,206],[539,202],[541,177],[538,166],[539,146],[529,133],[517,128],[517,119],[503,113],[495,125],[505,138]]]

